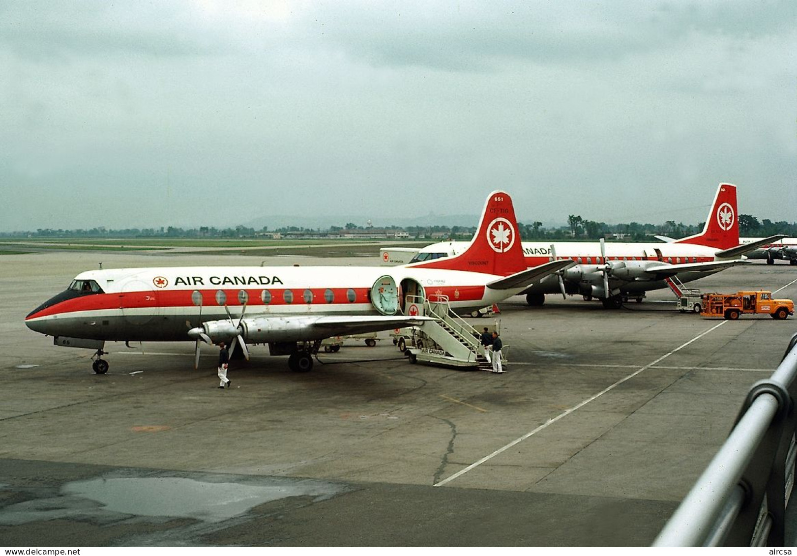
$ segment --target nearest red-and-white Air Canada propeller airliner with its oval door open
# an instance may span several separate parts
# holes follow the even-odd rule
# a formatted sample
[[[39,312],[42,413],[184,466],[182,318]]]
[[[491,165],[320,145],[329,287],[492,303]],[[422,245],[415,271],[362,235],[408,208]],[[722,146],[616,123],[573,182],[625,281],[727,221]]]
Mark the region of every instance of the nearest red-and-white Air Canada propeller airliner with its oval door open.
[[[514,296],[572,264],[528,268],[512,199],[489,195],[478,233],[462,253],[434,264],[384,267],[175,267],[82,272],[65,292],[26,317],[59,346],[96,349],[104,374],[106,341],[268,343],[310,370],[322,339],[422,323],[418,300],[447,298],[456,311]]]

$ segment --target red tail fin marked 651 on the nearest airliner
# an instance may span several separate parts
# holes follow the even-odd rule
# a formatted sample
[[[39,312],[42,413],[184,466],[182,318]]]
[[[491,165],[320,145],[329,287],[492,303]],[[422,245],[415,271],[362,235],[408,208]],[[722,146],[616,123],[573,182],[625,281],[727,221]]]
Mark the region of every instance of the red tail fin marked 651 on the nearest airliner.
[[[520,245],[512,198],[504,191],[493,191],[489,195],[476,235],[468,249],[457,256],[415,263],[413,266],[485,272],[498,276],[508,276],[528,268]]]

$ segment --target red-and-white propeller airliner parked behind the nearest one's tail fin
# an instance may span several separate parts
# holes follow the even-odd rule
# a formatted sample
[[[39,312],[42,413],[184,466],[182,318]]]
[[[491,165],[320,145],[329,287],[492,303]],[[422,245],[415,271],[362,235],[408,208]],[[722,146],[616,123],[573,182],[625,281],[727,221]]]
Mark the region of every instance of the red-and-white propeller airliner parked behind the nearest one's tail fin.
[[[571,268],[544,277],[523,292],[529,305],[542,305],[545,295],[561,292],[599,298],[607,308],[621,307],[624,300],[642,300],[645,292],[660,288],[677,289],[673,277],[690,282],[724,268],[747,262],[739,258],[760,245],[783,236],[760,238],[740,245],[736,217],[736,186],[720,183],[701,233],[669,243],[604,243],[583,241],[524,241],[523,252],[529,267],[548,260],[572,260]],[[413,264],[438,263],[465,249],[466,242],[446,241],[427,245]],[[669,282],[669,284],[668,284]]]

